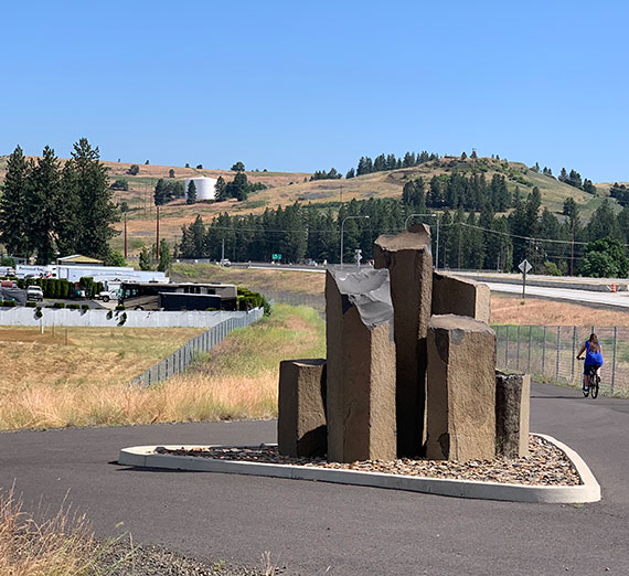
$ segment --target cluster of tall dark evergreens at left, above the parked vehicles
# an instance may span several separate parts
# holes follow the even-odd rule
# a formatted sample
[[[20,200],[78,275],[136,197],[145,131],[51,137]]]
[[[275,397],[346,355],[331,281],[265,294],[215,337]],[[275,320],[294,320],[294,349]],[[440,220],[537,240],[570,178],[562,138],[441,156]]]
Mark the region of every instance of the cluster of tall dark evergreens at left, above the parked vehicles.
[[[0,196],[0,242],[13,256],[50,264],[58,255],[107,260],[111,226],[119,220],[98,148],[74,143],[62,164],[46,146],[36,160],[18,146],[7,163]]]

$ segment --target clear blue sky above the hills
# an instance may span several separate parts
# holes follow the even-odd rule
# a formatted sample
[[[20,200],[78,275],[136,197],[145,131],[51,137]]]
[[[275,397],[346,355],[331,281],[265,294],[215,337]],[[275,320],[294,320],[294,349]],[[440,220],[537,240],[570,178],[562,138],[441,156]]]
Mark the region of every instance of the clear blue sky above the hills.
[[[0,153],[343,173],[499,153],[628,181],[626,2],[11,2]]]

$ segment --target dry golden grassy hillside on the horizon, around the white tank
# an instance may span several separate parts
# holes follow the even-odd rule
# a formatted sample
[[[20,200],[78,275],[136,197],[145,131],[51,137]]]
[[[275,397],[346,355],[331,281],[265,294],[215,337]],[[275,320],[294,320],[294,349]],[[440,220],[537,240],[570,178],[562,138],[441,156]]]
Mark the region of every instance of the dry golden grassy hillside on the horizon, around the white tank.
[[[4,178],[7,157],[0,157],[0,180]],[[143,245],[154,242],[156,209],[153,205],[153,190],[158,179],[169,179],[170,170],[174,170],[175,180],[191,177],[222,175],[226,181],[234,178],[235,172],[228,170],[211,170],[196,168],[181,168],[171,166],[138,164],[137,175],[128,174],[131,167],[125,162],[104,162],[111,181],[125,179],[128,182],[128,191],[116,191],[117,202],[127,202],[130,211],[127,214],[128,247],[136,253]],[[245,202],[234,200],[221,203],[200,202],[193,205],[178,200],[168,203],[160,209],[160,237],[169,241],[179,239],[181,226],[192,222],[200,214],[205,222],[218,213],[230,214],[259,214],[266,207],[275,209],[285,206],[296,201],[302,203],[323,204],[338,206],[340,202],[352,199],[366,200],[370,198],[401,198],[404,184],[412,179],[422,177],[428,182],[434,175],[448,174],[454,171],[471,173],[472,170],[484,173],[487,181],[491,181],[494,173],[507,178],[508,186],[514,190],[520,186],[524,194],[537,186],[542,194],[542,203],[548,210],[561,213],[564,200],[572,196],[579,205],[585,221],[609,194],[610,183],[596,184],[596,196],[559,182],[555,178],[546,177],[530,170],[521,162],[507,162],[492,158],[479,158],[477,160],[455,157],[444,157],[414,168],[375,172],[350,180],[317,180],[310,181],[310,174],[303,172],[246,172],[250,182],[262,182],[267,190],[260,190],[249,195]],[[619,210],[619,209],[618,209]],[[122,223],[117,228],[122,231]],[[115,249],[122,248],[122,236],[113,241]]]

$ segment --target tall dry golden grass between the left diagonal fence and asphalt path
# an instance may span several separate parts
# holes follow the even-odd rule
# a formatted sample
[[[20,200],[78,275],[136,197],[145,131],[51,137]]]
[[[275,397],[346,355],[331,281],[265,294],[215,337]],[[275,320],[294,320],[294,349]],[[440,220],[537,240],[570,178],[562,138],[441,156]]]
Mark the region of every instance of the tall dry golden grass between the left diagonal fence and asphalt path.
[[[117,374],[108,381],[97,367],[92,378],[79,383],[60,382],[60,374],[51,374],[45,382],[6,388],[0,395],[0,428],[274,417],[279,362],[323,356],[323,331],[313,310],[276,306],[270,318],[232,332],[184,375],[149,388],[130,387],[130,377]]]

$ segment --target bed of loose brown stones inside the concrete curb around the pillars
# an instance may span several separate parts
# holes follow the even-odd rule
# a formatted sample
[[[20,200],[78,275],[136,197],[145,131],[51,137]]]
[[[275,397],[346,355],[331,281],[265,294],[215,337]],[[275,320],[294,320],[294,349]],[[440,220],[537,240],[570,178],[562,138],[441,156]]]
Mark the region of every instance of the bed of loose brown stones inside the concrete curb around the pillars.
[[[530,455],[524,458],[495,458],[493,460],[469,460],[466,462],[401,458],[388,462],[365,460],[339,463],[328,462],[324,458],[290,458],[281,456],[276,446],[267,445],[246,448],[217,447],[190,450],[184,448],[167,449],[160,446],[156,448],[156,454],[527,486],[576,486],[582,483],[573,463],[557,447],[539,436],[531,436],[529,448]]]

